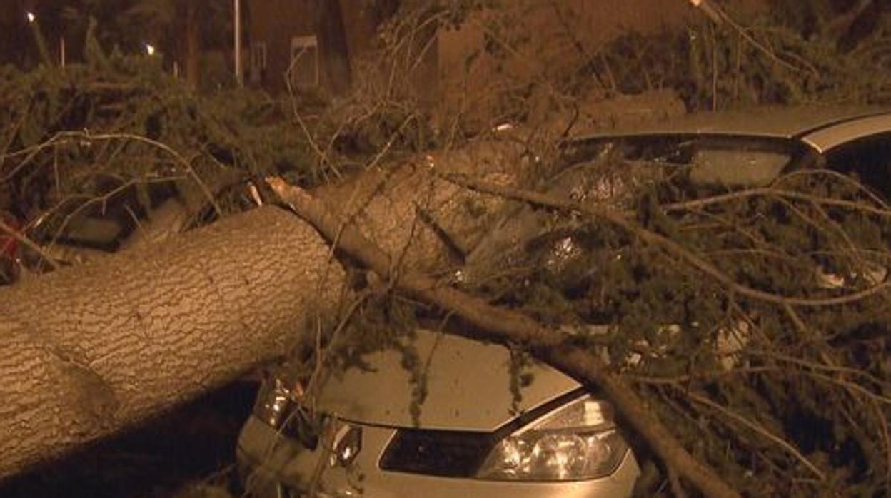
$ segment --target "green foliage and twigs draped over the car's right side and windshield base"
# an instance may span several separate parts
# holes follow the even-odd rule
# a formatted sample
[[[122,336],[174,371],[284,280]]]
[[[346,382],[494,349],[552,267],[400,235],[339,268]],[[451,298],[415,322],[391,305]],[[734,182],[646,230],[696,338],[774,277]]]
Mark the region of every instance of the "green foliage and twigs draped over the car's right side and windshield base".
[[[891,441],[875,435],[891,416],[891,296],[869,275],[887,273],[891,211],[824,170],[717,200],[727,191],[684,167],[651,167],[668,180],[647,180],[626,201],[632,230],[540,212],[526,219],[538,233],[521,249],[477,262],[492,274],[476,273],[472,288],[609,357],[744,495],[887,494]],[[572,184],[612,170],[595,163]],[[691,203],[703,199],[713,201]],[[828,285],[827,274],[844,282]]]

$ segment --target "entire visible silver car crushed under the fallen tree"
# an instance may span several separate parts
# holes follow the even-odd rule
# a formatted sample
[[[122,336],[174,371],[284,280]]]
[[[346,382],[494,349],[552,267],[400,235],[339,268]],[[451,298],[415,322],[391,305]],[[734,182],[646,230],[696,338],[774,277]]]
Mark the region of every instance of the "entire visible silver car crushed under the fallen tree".
[[[885,110],[701,113],[607,130],[562,147],[565,166],[548,192],[577,200],[620,204],[641,177],[624,176],[625,169],[653,172],[653,165],[665,164],[689,167],[692,181],[722,188],[767,185],[783,173],[829,168],[857,177],[879,200],[891,198],[891,112]],[[604,155],[622,159],[613,164],[623,169],[587,182],[585,165]],[[493,261],[525,257],[558,275],[554,282],[573,285],[579,269],[568,263],[581,246],[572,233],[552,231],[541,210],[516,204],[508,211],[467,257],[455,284],[497,269]],[[884,268],[874,273],[874,280],[887,277]],[[821,278],[817,285],[844,280]],[[718,346],[726,348],[725,368],[732,368],[733,355],[745,344],[745,331],[736,332]],[[531,381],[518,382],[515,353],[500,345],[432,330],[402,340],[403,349],[412,347],[423,362],[422,403],[418,376],[405,368],[398,350],[366,355],[362,367],[325,376],[313,396],[293,375],[266,379],[237,445],[247,492],[261,498],[634,493],[643,455],[635,453],[634,438],[596,388],[538,363],[527,364],[520,375]]]

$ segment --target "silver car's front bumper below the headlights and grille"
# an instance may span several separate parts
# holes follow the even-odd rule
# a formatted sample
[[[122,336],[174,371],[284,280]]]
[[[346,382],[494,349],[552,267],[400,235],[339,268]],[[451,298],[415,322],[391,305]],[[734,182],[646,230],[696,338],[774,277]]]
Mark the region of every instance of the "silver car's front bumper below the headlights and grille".
[[[318,495],[331,498],[625,498],[631,496],[639,475],[631,452],[625,454],[616,472],[608,478],[573,482],[486,481],[389,472],[381,470],[378,461],[395,430],[375,426],[362,429],[363,449],[356,461],[344,469],[320,461],[325,457],[323,450],[308,450],[295,439],[250,417],[238,442],[241,482],[257,498],[297,498],[307,493],[314,476],[318,476]]]

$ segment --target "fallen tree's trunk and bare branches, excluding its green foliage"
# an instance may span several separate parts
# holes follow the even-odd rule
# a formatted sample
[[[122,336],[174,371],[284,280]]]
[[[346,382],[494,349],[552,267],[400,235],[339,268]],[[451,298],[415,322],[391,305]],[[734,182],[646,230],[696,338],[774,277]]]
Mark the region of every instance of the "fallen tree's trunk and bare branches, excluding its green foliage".
[[[470,158],[465,160],[473,163]],[[466,171],[462,167],[456,169]],[[374,271],[386,275],[385,279],[393,278],[393,285],[403,285],[415,297],[429,299],[437,306],[466,314],[465,318],[477,326],[477,331],[484,331],[478,337],[519,343],[576,378],[596,383],[617,404],[632,427],[653,447],[660,461],[665,463],[669,473],[667,478],[671,480],[676,473],[683,479],[679,482],[696,486],[707,495],[733,496],[739,490],[723,484],[726,476],[721,474],[721,478],[715,478],[714,471],[708,465],[703,465],[704,461],[715,465],[715,461],[711,460],[715,457],[714,454],[691,457],[688,453],[691,448],[691,434],[686,429],[681,431],[684,424],[675,426],[674,422],[677,420],[671,418],[670,410],[676,402],[666,404],[665,400],[659,401],[659,397],[654,397],[650,392],[650,386],[680,389],[678,395],[681,399],[691,396],[690,399],[697,400],[698,405],[728,416],[727,408],[693,392],[692,387],[695,385],[707,388],[708,383],[715,378],[733,379],[734,375],[746,376],[758,372],[774,375],[776,372],[782,373],[792,363],[786,367],[773,363],[756,364],[740,369],[739,373],[722,373],[715,370],[715,364],[711,363],[708,355],[699,351],[692,357],[694,363],[687,363],[687,356],[663,355],[664,360],[644,362],[647,368],[643,370],[624,371],[627,368],[625,363],[616,363],[616,368],[609,367],[601,363],[597,355],[592,354],[592,345],[586,343],[586,340],[593,340],[592,338],[579,343],[578,337],[570,339],[565,334],[556,332],[552,326],[544,326],[543,323],[554,323],[552,317],[535,315],[535,320],[532,320],[523,315],[498,311],[486,302],[498,302],[497,298],[466,298],[460,292],[449,289],[441,280],[417,276],[419,269],[429,272],[431,269],[442,268],[443,259],[448,262],[447,257],[439,261],[436,258],[427,258],[426,261],[416,259],[418,255],[424,255],[430,250],[440,254],[449,252],[443,249],[443,246],[449,244],[444,244],[440,238],[442,233],[447,235],[450,232],[444,230],[444,226],[454,228],[470,224],[470,218],[479,214],[478,207],[485,205],[479,204],[476,194],[462,194],[464,191],[456,184],[495,194],[502,200],[511,198],[556,209],[558,212],[600,219],[608,225],[634,233],[644,246],[657,249],[657,253],[666,253],[669,259],[678,260],[688,268],[686,276],[683,273],[681,276],[675,275],[675,278],[680,279],[676,282],[682,289],[685,286],[683,282],[693,275],[692,280],[699,281],[699,286],[694,291],[706,298],[720,296],[718,290],[721,290],[737,295],[737,306],[747,306],[744,304],[745,298],[765,301],[771,306],[782,306],[780,309],[786,310],[783,313],[786,313],[787,323],[800,327],[797,334],[783,333],[796,341],[810,340],[807,338],[810,337],[808,334],[811,333],[809,331],[812,326],[827,331],[831,330],[828,329],[830,325],[840,325],[844,320],[852,318],[846,318],[844,314],[804,313],[811,307],[856,304],[871,296],[882,298],[886,295],[884,285],[878,285],[875,289],[840,298],[777,297],[734,280],[740,279],[740,275],[733,278],[727,276],[727,260],[703,259],[697,252],[686,249],[697,247],[701,243],[698,238],[677,238],[676,235],[667,237],[660,234],[659,231],[674,232],[670,224],[666,225],[668,222],[665,219],[652,222],[661,224],[655,225],[658,230],[654,232],[652,226],[638,226],[633,213],[591,210],[565,199],[505,186],[506,176],[503,173],[494,178],[501,181],[493,183],[470,179],[440,171],[438,168],[431,169],[425,164],[413,166],[406,163],[405,170],[401,173],[383,176],[371,174],[356,178],[353,184],[320,191],[323,198],[330,196],[327,197],[328,201],[339,205],[339,209],[335,210],[339,217],[323,216],[320,218],[323,219],[319,224],[320,229],[329,240],[337,241],[335,246],[338,249],[344,249]],[[278,186],[282,191],[281,185]],[[844,196],[841,199],[815,197],[797,190],[744,191],[666,204],[660,209],[695,211],[725,202],[758,200],[762,197],[772,199],[777,196],[805,204],[822,204],[827,208],[853,209],[868,216],[885,217],[887,213],[884,208],[862,201],[846,200]],[[285,197],[291,199],[287,192]],[[344,203],[345,198],[350,201]],[[468,201],[471,200],[476,203],[470,202],[472,206],[469,207]],[[497,205],[498,203],[494,206]],[[423,207],[431,209],[422,209]],[[432,209],[434,207],[436,209]],[[365,223],[364,218],[357,217],[360,211],[368,208],[380,216],[377,225]],[[421,216],[422,211],[435,216]],[[307,215],[307,212],[300,212]],[[757,208],[756,205],[756,212],[764,212],[764,207]],[[392,219],[388,219],[387,215],[391,215]],[[450,223],[428,224],[422,221],[424,217],[449,220]],[[807,216],[801,217],[808,220],[805,225],[813,223]],[[357,219],[360,221],[356,221]],[[745,219],[741,217],[740,221]],[[852,221],[847,220],[846,223]],[[366,241],[364,238],[356,238],[356,225],[370,234],[363,237],[377,241],[367,243],[367,247],[381,245],[387,247],[387,251],[372,251],[371,257],[365,255],[362,248]],[[833,232],[833,225],[828,226],[829,230],[820,231]],[[789,227],[785,230],[789,230]],[[412,245],[424,240],[424,237],[419,237],[424,232],[429,232],[429,242],[418,246],[420,252],[415,254]],[[838,233],[833,240],[835,243],[851,242],[851,239],[838,236]],[[681,242],[692,246],[682,245]],[[462,243],[452,245],[461,246]],[[356,247],[360,248],[358,252]],[[832,246],[830,244],[826,247]],[[387,252],[396,254],[397,257],[388,257]],[[641,254],[646,255],[647,251],[643,250]],[[752,255],[755,254],[756,251],[752,251]],[[664,264],[664,257],[665,255],[658,256],[658,259],[646,264],[651,265],[654,270],[668,268],[667,271],[674,271],[671,265]],[[347,267],[351,266],[348,261],[347,259]],[[4,399],[8,402],[2,413],[4,425],[0,426],[3,428],[0,434],[4,436],[7,446],[4,447],[4,459],[0,460],[0,469],[4,469],[4,475],[9,475],[95,437],[126,428],[163,410],[170,403],[194,396],[204,389],[232,379],[241,371],[266,359],[283,354],[289,339],[299,339],[293,332],[306,328],[306,322],[303,321],[308,320],[311,327],[324,326],[316,315],[307,312],[317,311],[329,317],[338,314],[338,305],[343,304],[339,299],[340,293],[345,290],[346,281],[339,265],[332,266],[331,262],[331,249],[306,225],[297,223],[273,208],[263,208],[246,215],[233,216],[162,245],[125,251],[119,256],[106,258],[101,264],[63,269],[19,287],[4,290],[4,301],[0,309],[4,316],[10,317],[4,322],[8,329],[4,332],[10,340],[3,345],[4,358],[8,360],[0,363],[3,367],[0,372],[3,372],[6,379],[13,381],[4,383]],[[628,260],[627,265],[634,267],[634,258]],[[707,276],[707,279],[703,281],[697,276],[699,274]],[[714,283],[708,283],[709,281]],[[150,288],[143,282],[157,282],[157,286],[153,284]],[[646,289],[647,285],[650,284],[641,282],[642,289]],[[703,285],[715,294],[702,292]],[[87,294],[83,289],[90,292]],[[807,291],[806,288],[803,289]],[[680,294],[683,298],[683,292]],[[184,298],[191,301],[183,302]],[[678,306],[676,299],[677,297],[667,299],[663,306],[682,310],[683,306]],[[249,303],[250,306],[246,307],[244,303]],[[767,312],[767,308],[764,308],[759,320],[771,316]],[[754,316],[751,310],[749,314],[742,315],[749,318]],[[805,320],[802,320],[802,316]],[[623,318],[634,320],[641,316],[632,313]],[[658,316],[650,317],[650,322],[637,324],[651,327],[658,325],[659,319]],[[844,320],[840,322],[839,319]],[[756,320],[752,320],[752,323],[755,322]],[[785,326],[787,323],[779,325]],[[510,331],[504,329],[504,324],[511,325]],[[770,322],[764,323],[764,327],[767,328],[759,333],[771,335],[780,331],[775,329],[777,324]],[[616,336],[619,350],[623,349],[625,342],[636,340],[642,333],[634,328],[621,330],[624,332]],[[861,396],[865,396],[863,399],[871,403],[876,401],[871,396],[879,396],[880,399],[874,389],[884,386],[884,380],[880,376],[873,377],[875,374],[871,370],[872,366],[859,369],[850,363],[856,359],[849,356],[856,353],[856,350],[846,349],[851,347],[850,344],[842,343],[840,348],[823,345],[811,350],[820,343],[806,342],[802,345],[789,342],[789,339],[781,339],[784,347],[790,348],[789,361],[811,365],[802,372],[789,368],[789,374],[813,380],[814,370],[811,369],[817,369],[816,373],[822,368],[830,369],[830,373],[838,371],[841,376],[825,375],[825,379],[820,380],[829,382],[830,391],[840,388],[846,392],[845,396],[854,396],[854,403],[859,403],[857,400]],[[677,347],[671,341],[662,344],[658,342],[658,337],[655,340],[657,342],[650,344],[652,349]],[[797,353],[795,348],[803,346],[811,349]],[[760,353],[756,349],[753,347],[751,352],[747,350],[743,355],[751,361],[760,361]],[[144,354],[146,350],[151,354]],[[778,354],[785,353],[781,351]],[[701,358],[697,359],[698,356]],[[814,357],[817,359],[816,363],[813,363]],[[171,368],[171,364],[182,366]],[[861,379],[862,376],[866,376],[866,381]],[[702,382],[705,384],[701,384]],[[746,384],[742,386],[745,387]],[[727,388],[723,384],[720,387]],[[646,404],[642,403],[641,395],[647,400]],[[666,409],[669,409],[667,414],[673,420],[671,431],[666,431],[659,419],[653,416],[654,413],[658,413],[659,417],[666,416]],[[695,410],[694,413],[699,417],[705,416],[702,411]],[[782,480],[777,483],[764,481],[764,486],[773,486],[772,489],[777,490],[777,486],[782,486],[785,479],[801,478],[802,474],[811,472],[818,478],[814,482],[820,484],[830,475],[828,472],[831,467],[822,461],[811,461],[811,458],[797,450],[795,442],[789,442],[782,436],[781,429],[773,427],[775,421],[769,418],[764,420],[765,424],[771,424],[768,426],[771,429],[765,429],[758,422],[740,419],[739,415],[729,413],[732,423],[741,423],[744,426],[744,432],[748,435],[746,437],[751,437],[748,431],[754,430],[759,436],[755,441],[764,437],[773,446],[770,449],[762,447],[764,443],[756,445],[756,454],[764,452],[764,456],[759,458],[778,461],[788,458],[797,461],[800,467],[790,470],[788,475],[783,474]],[[862,415],[867,417],[867,424],[876,420],[871,412],[863,412]],[[707,417],[705,420],[711,419]],[[713,420],[711,423],[723,427],[727,422]],[[878,448],[882,446],[881,441],[876,443]],[[774,453],[777,448],[783,456]],[[722,467],[722,472],[727,471],[728,475],[733,475],[740,469],[734,467],[739,465],[738,461],[731,460],[729,464],[731,467]],[[870,465],[874,464],[871,461]],[[741,468],[745,469],[745,466]],[[736,486],[739,485],[734,481],[733,487]]]

